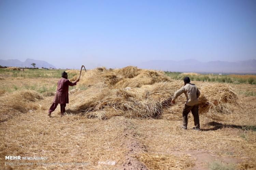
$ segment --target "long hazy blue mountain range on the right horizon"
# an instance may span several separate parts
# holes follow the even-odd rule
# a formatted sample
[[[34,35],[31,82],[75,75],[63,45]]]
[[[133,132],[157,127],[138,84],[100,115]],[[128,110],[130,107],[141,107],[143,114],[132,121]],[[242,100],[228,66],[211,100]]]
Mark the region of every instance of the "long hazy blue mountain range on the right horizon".
[[[246,60],[238,62],[200,62],[193,59],[183,61],[152,60],[140,63],[137,66],[139,68],[145,69],[179,72],[256,73],[256,60]]]

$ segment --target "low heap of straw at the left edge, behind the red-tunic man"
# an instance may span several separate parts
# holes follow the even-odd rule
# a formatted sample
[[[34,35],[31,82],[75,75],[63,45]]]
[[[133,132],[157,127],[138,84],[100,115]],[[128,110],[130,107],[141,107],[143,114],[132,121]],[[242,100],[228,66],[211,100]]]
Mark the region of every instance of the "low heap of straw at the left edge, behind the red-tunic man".
[[[22,90],[3,95],[0,98],[1,122],[19,113],[39,109],[40,106],[34,102],[43,99],[36,91]]]

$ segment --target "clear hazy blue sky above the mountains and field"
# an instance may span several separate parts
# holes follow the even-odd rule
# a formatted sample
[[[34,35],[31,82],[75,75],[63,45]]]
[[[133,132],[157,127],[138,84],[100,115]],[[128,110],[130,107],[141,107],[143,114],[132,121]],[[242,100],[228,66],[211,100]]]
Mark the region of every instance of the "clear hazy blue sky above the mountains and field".
[[[255,0],[0,0],[0,59],[56,67],[256,59]]]

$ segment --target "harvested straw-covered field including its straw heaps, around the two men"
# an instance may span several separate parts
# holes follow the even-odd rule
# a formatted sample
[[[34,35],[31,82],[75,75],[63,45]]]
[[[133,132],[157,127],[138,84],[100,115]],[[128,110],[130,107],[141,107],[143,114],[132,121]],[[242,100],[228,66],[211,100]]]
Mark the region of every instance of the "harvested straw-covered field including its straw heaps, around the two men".
[[[79,71],[68,70],[69,79]],[[184,104],[170,103],[183,82],[161,71],[128,66],[82,72],[70,88],[80,90],[70,94],[66,115],[60,117],[58,106],[51,118],[60,70],[33,72],[0,72],[2,169],[256,167],[254,84],[192,81],[201,91],[201,131],[194,131],[191,113],[188,130],[179,128]],[[8,155],[47,160],[5,160]]]

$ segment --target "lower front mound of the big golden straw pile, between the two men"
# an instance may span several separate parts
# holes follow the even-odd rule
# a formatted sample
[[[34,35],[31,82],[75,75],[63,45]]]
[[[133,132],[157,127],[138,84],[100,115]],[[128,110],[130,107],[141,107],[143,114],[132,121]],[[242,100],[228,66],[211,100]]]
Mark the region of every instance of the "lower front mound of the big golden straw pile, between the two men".
[[[94,87],[81,92],[75,98],[70,112],[86,113],[113,109],[126,117],[156,117],[170,104],[175,86],[177,84],[173,82],[160,82],[130,90],[108,87],[96,90]]]

